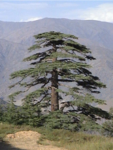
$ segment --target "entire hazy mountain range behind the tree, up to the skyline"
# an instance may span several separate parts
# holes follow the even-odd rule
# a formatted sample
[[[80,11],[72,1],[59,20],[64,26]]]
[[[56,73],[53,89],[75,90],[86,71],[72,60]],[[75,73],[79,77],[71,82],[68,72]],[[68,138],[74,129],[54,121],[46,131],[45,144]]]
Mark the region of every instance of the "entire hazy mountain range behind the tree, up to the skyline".
[[[33,22],[0,21],[0,96],[7,101],[11,93],[9,75],[27,67],[22,60],[30,55],[28,47],[34,43],[33,35],[59,31],[74,34],[78,42],[91,49],[95,61],[89,62],[94,75],[107,85],[97,97],[109,101],[113,98],[113,23],[100,21],[44,18]]]

